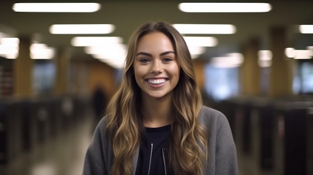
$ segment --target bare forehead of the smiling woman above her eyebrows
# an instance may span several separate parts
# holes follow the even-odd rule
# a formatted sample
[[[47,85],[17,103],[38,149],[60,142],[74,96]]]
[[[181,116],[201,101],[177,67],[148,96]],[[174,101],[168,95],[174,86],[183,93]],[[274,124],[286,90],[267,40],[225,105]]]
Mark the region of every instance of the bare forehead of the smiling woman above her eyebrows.
[[[136,51],[174,51],[174,48],[171,40],[164,33],[152,32],[138,40]]]

